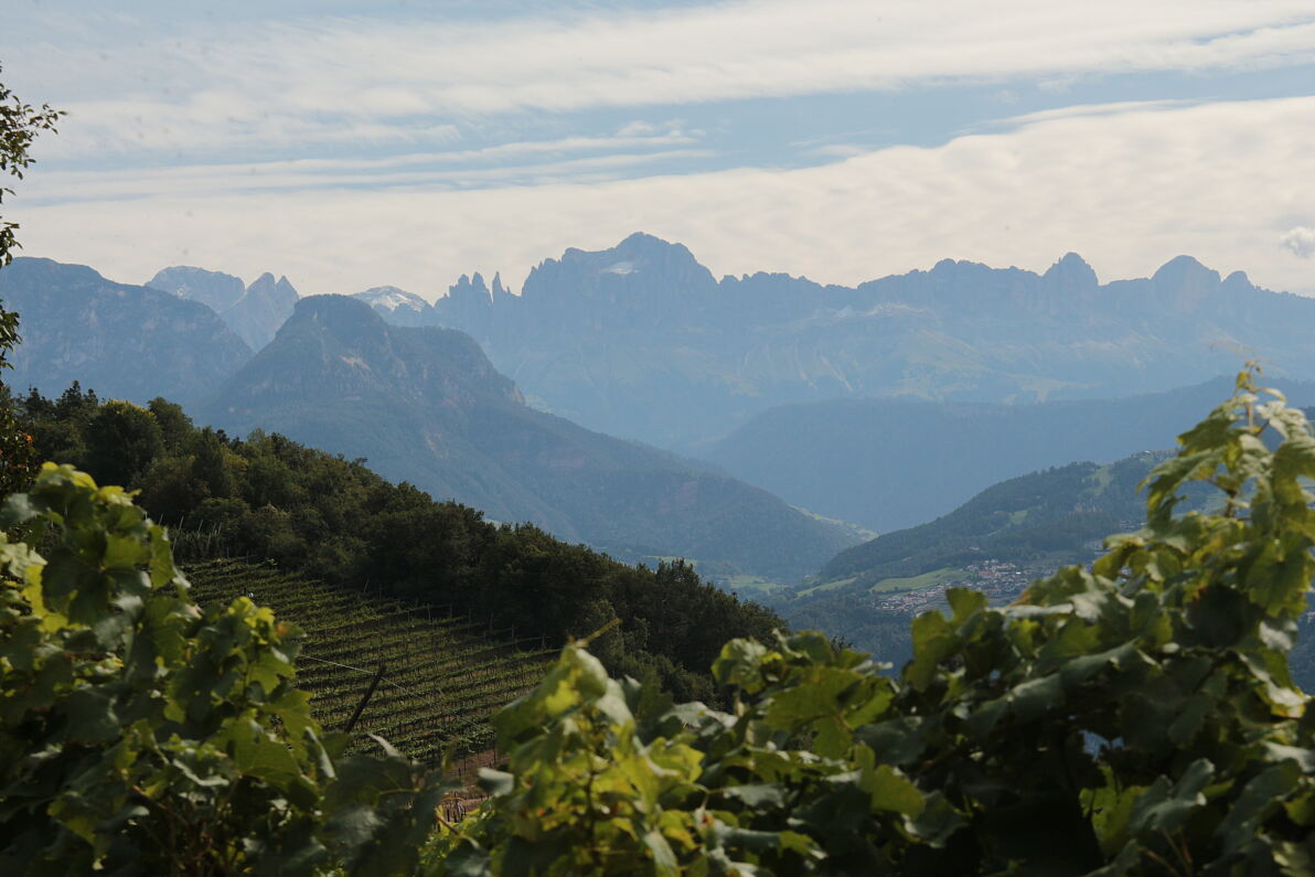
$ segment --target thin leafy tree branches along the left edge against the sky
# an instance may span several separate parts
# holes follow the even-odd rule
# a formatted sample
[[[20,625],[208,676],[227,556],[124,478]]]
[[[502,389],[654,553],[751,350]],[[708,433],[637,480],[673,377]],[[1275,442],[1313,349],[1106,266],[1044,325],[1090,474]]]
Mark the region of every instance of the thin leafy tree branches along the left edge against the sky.
[[[32,141],[41,131],[54,131],[62,114],[49,104],[33,108],[22,103],[0,83],[0,174],[21,180],[24,170],[34,160],[29,151]],[[13,195],[13,189],[0,185],[0,208],[5,195]],[[17,227],[17,222],[0,216],[0,268],[13,262],[13,250],[18,249],[13,234]],[[12,367],[9,351],[20,341],[18,314],[5,310],[4,301],[0,301],[0,372]],[[0,381],[0,496],[25,486],[36,472],[37,462],[32,435],[14,417],[9,389]]]

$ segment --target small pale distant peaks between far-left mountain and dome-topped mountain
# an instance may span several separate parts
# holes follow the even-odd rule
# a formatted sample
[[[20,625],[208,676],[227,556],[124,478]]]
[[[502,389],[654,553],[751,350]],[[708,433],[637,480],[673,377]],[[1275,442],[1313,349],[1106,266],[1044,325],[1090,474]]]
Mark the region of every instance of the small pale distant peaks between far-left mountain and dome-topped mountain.
[[[260,275],[243,288],[233,275],[178,266],[164,268],[146,284],[213,309],[252,350],[260,350],[297,304],[297,291],[287,277]]]

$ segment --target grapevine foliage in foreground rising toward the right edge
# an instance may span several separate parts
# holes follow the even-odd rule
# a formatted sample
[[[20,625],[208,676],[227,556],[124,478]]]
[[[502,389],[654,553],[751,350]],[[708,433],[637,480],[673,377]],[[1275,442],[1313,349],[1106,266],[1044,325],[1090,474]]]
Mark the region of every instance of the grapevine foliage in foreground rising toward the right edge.
[[[948,592],[898,678],[818,634],[732,640],[719,713],[567,647],[496,719],[509,769],[427,866],[1311,873],[1315,717],[1286,652],[1315,573],[1315,439],[1248,371],[1180,444],[1141,530],[1009,606]],[[1194,481],[1216,505],[1176,513]]]

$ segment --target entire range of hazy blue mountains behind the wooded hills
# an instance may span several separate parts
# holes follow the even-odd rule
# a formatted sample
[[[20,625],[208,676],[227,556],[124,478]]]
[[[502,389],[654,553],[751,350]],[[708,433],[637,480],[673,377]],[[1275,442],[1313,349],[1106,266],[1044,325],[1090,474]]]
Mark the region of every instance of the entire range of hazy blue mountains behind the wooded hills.
[[[1315,302],[1185,256],[1107,284],[1069,254],[1040,275],[943,260],[847,288],[717,280],[635,234],[544,260],[519,295],[473,273],[434,304],[396,287],[300,300],[285,277],[191,267],[151,284],[0,271],[25,335],[13,384],[164,394],[618,557],[776,581],[993,481],[1165,447],[1243,350],[1315,376]]]

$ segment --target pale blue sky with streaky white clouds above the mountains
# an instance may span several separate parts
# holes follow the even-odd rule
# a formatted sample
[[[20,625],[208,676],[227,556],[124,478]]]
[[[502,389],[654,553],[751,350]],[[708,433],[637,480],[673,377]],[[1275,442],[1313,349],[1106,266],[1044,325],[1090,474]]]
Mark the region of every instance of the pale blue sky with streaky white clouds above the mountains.
[[[11,0],[67,110],[24,254],[302,295],[513,288],[633,231],[714,275],[1189,254],[1315,295],[1310,0]]]

